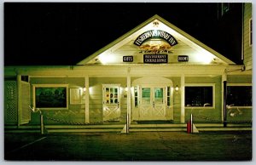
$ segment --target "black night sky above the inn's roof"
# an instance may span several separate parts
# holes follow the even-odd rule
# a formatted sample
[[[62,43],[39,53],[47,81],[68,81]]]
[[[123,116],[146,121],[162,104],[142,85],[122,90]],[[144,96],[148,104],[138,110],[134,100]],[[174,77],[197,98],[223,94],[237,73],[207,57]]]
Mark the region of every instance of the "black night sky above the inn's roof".
[[[218,16],[218,3],[4,3],[4,65],[76,65],[154,14],[236,63],[241,4]]]

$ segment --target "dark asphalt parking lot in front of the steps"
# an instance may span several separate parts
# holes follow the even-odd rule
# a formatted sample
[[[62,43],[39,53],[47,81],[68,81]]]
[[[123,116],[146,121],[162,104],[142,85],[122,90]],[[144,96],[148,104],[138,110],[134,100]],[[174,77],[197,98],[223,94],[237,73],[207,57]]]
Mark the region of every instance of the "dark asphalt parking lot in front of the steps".
[[[4,134],[8,161],[251,161],[252,132]]]

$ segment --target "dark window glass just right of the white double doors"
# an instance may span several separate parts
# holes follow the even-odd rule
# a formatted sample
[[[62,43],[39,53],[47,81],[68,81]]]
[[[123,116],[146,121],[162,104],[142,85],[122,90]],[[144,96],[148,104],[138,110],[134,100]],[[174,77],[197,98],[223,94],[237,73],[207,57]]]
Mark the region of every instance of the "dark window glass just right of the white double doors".
[[[213,107],[214,106],[214,86],[186,86],[185,106],[193,107]]]

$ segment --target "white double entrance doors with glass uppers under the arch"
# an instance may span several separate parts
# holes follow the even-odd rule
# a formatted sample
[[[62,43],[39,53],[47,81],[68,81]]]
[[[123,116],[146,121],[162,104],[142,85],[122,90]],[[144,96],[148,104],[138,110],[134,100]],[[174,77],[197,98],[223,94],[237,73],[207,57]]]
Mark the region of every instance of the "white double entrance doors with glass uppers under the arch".
[[[166,120],[166,94],[164,87],[141,88],[140,120]]]

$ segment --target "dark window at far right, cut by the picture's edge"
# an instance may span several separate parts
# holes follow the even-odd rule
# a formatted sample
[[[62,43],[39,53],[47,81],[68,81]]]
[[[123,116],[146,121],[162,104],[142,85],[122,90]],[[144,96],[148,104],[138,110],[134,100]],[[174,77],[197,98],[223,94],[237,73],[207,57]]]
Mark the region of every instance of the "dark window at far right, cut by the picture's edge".
[[[227,105],[252,106],[252,86],[231,84],[227,87]]]

